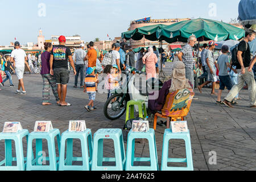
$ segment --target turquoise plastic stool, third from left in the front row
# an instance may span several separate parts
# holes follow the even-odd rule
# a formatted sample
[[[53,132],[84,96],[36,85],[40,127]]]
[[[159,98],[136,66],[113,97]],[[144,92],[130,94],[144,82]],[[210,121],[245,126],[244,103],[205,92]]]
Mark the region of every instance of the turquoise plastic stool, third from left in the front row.
[[[73,157],[73,139],[81,140],[82,157]],[[88,142],[87,142],[88,139]],[[65,144],[67,140],[67,159],[65,159]],[[89,151],[88,151],[89,147]],[[90,171],[92,165],[92,131],[86,129],[84,132],[65,131],[61,135],[59,171]],[[90,152],[90,153],[89,153]],[[89,157],[90,154],[90,157]],[[73,161],[82,161],[82,166],[72,166]]]

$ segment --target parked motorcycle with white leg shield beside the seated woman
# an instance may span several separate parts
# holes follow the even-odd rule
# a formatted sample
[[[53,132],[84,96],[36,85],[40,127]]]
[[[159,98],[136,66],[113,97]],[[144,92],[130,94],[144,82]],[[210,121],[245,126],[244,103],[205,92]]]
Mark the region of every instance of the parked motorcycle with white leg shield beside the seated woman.
[[[144,75],[145,72],[138,71],[133,67],[127,67],[125,70],[126,81],[123,86],[118,89],[111,90],[111,97],[105,102],[104,115],[110,120],[115,120],[126,112],[127,102],[130,100],[145,101],[146,107],[148,106],[148,90],[159,90],[163,83],[155,78],[151,78],[146,81],[146,85],[138,85],[138,76]],[[143,76],[142,76],[143,77]],[[156,83],[156,84],[155,84]],[[155,84],[152,86],[152,84]],[[146,86],[146,92],[143,92],[143,86]],[[135,106],[135,110],[138,111],[138,106]]]

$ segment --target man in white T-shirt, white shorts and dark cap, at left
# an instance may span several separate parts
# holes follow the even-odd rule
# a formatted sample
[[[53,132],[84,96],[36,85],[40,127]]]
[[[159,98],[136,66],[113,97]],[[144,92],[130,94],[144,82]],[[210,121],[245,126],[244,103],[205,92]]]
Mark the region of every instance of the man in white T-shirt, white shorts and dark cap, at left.
[[[20,48],[19,42],[14,43],[14,50],[11,52],[11,63],[14,63],[15,72],[19,80],[18,90],[16,90],[15,93],[26,95],[27,92],[25,90],[23,82],[25,64],[30,72],[31,70],[27,63],[26,52],[22,48]],[[20,92],[20,87],[22,88],[22,92]]]

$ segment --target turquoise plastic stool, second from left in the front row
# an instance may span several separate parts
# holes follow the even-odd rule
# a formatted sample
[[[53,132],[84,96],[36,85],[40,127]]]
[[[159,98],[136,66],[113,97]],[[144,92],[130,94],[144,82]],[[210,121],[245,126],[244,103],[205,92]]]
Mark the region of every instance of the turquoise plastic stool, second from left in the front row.
[[[55,151],[55,141],[54,138],[57,137],[58,150],[60,151],[60,130],[53,129],[48,133],[38,133],[32,132],[28,135],[28,146],[27,146],[27,171],[57,171],[57,160]],[[32,141],[36,140],[36,158],[34,159],[34,154],[32,151]],[[49,166],[42,166],[42,162],[39,159],[43,158],[42,152],[42,139],[47,140],[49,156],[46,160],[49,160]]]

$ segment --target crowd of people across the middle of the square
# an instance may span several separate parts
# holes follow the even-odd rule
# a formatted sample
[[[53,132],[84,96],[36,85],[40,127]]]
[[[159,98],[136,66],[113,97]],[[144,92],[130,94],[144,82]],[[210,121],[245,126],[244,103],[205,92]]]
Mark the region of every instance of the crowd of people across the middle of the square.
[[[239,64],[236,65],[232,63],[233,60],[230,61],[227,55],[229,53],[229,47],[227,46],[222,46],[221,55],[218,57],[217,61],[214,61],[213,51],[215,46],[217,46],[214,41],[210,41],[208,44],[204,44],[203,47],[200,47],[198,55],[199,63],[197,63],[195,60],[196,53],[193,50],[197,38],[195,35],[190,36],[188,43],[177,54],[178,60],[174,61],[172,64],[172,68],[180,69],[180,74],[173,75],[173,73],[171,73],[171,76],[168,77],[170,79],[165,80],[166,82],[164,83],[166,84],[166,90],[169,90],[171,85],[174,84],[171,82],[171,78],[177,79],[177,81],[175,81],[175,88],[180,88],[179,84],[182,83],[181,85],[183,86],[181,87],[186,88],[187,86],[187,88],[192,89],[197,87],[200,93],[202,93],[202,89],[205,85],[212,83],[211,94],[217,96],[216,104],[225,104],[229,107],[233,107],[232,105],[237,104],[234,100],[239,99],[238,93],[246,82],[250,92],[250,107],[255,108],[256,86],[252,69],[256,59],[255,56],[251,59],[250,47],[248,45],[248,42],[254,39],[254,31],[246,32],[245,39],[238,45],[237,59]],[[80,74],[80,88],[84,88],[84,92],[87,92],[89,96],[89,103],[84,107],[86,110],[92,111],[97,109],[94,106],[94,101],[98,90],[99,74],[105,73],[106,75],[104,88],[107,90],[109,98],[111,96],[110,90],[118,88],[119,78],[121,77],[120,73],[125,71],[127,66],[146,72],[148,80],[150,78],[158,78],[160,60],[162,64],[165,65],[167,59],[170,59],[170,56],[172,58],[174,57],[173,53],[170,55],[170,53],[164,50],[159,53],[159,49],[153,46],[148,47],[147,50],[142,48],[136,59],[135,52],[132,49],[125,51],[125,43],[114,43],[112,50],[106,53],[105,56],[103,53],[101,53],[100,56],[97,55],[93,42],[86,45],[87,52],[85,51],[85,45],[81,44],[80,47],[72,53],[71,49],[65,46],[65,42],[65,37],[60,36],[58,46],[52,46],[51,43],[44,43],[45,51],[40,54],[40,62],[42,65],[41,75],[43,78],[43,105],[51,105],[49,101],[51,88],[57,105],[72,105],[66,101],[70,67],[72,67],[75,75],[75,85],[73,87],[77,88]],[[11,56],[6,55],[5,59],[3,59],[3,55],[1,55],[1,75],[3,71],[6,74],[5,80],[2,80],[2,76],[0,77],[2,86],[4,86],[7,80],[10,81],[10,86],[14,86],[10,74],[10,71],[13,71],[16,73],[19,80],[18,89],[15,90],[15,93],[27,94],[23,82],[24,67],[26,65],[31,72],[29,60],[35,59],[34,56],[35,55],[27,56],[20,48],[19,42],[15,42],[15,49],[11,52]],[[201,85],[198,84],[198,72],[202,72],[202,76],[207,76],[207,81]],[[217,80],[220,80],[218,93],[215,91]],[[229,90],[229,94],[225,97],[224,101],[221,101],[221,94],[225,88]],[[162,90],[163,93],[166,93],[166,90]],[[198,98],[194,97],[194,99]],[[154,105],[155,104],[151,104],[151,106],[155,107]],[[109,105],[109,107],[111,107],[111,105]]]

